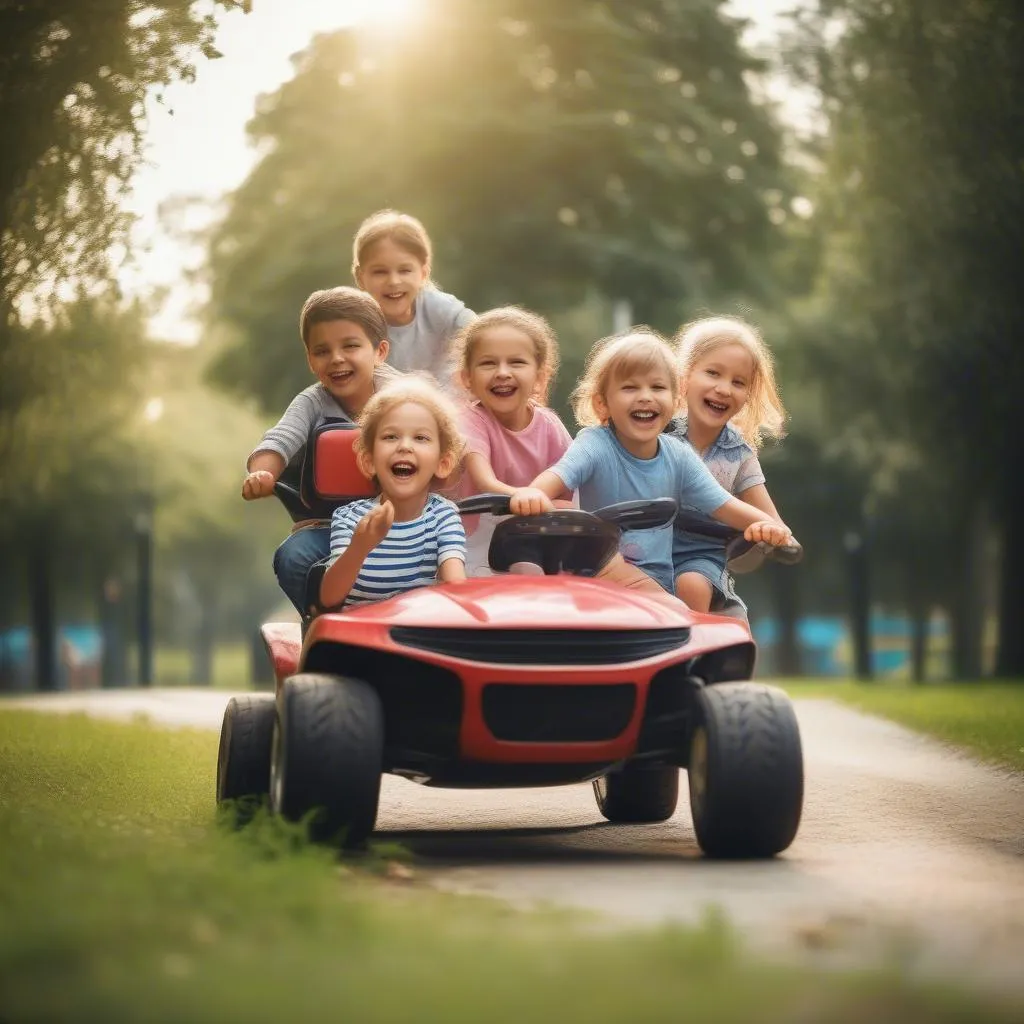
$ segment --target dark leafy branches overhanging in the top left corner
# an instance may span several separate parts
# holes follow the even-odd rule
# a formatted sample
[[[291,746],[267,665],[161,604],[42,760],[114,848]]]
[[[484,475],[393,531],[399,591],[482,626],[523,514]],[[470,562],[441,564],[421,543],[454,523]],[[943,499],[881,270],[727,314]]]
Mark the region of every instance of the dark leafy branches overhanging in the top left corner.
[[[215,6],[249,0],[0,3],[0,304],[104,279],[123,242],[146,93],[190,78]],[[202,8],[206,7],[204,11]],[[36,295],[39,301],[40,295]]]

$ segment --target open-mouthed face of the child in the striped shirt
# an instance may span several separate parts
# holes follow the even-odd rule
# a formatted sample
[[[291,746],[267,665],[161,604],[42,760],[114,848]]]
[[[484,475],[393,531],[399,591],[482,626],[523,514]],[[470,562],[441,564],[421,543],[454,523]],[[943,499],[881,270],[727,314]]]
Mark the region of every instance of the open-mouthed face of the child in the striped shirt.
[[[382,417],[373,451],[364,457],[364,470],[376,476],[390,501],[418,498],[430,490],[435,476],[453,469],[452,457],[441,454],[440,431],[429,409],[406,401]]]

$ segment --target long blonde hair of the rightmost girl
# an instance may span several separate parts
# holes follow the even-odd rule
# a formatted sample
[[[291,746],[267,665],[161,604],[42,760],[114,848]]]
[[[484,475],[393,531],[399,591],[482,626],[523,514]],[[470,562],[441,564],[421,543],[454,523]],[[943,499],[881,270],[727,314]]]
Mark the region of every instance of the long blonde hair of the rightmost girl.
[[[757,328],[738,316],[706,316],[682,327],[675,341],[684,388],[699,359],[722,345],[741,345],[750,353],[754,376],[746,403],[732,425],[754,447],[761,446],[765,435],[785,436],[785,409],[775,385],[774,360]]]

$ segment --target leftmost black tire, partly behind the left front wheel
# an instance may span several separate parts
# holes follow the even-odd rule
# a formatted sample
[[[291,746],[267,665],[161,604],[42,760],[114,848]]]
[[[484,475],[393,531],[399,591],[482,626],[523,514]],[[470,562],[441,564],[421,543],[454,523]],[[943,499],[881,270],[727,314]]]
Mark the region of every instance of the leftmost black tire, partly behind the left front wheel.
[[[231,697],[224,709],[217,752],[217,803],[257,806],[270,792],[270,748],[276,706],[270,694]],[[251,817],[251,810],[240,818]]]

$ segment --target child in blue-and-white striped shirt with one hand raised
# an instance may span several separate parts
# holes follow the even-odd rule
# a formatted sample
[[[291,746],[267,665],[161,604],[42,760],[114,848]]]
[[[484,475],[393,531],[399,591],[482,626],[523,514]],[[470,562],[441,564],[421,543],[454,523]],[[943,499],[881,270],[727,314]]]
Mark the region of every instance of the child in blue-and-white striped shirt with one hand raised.
[[[359,468],[380,497],[335,510],[321,604],[351,606],[435,580],[465,580],[459,512],[431,494],[455,469],[462,446],[451,402],[426,381],[402,380],[370,399],[359,426]]]

